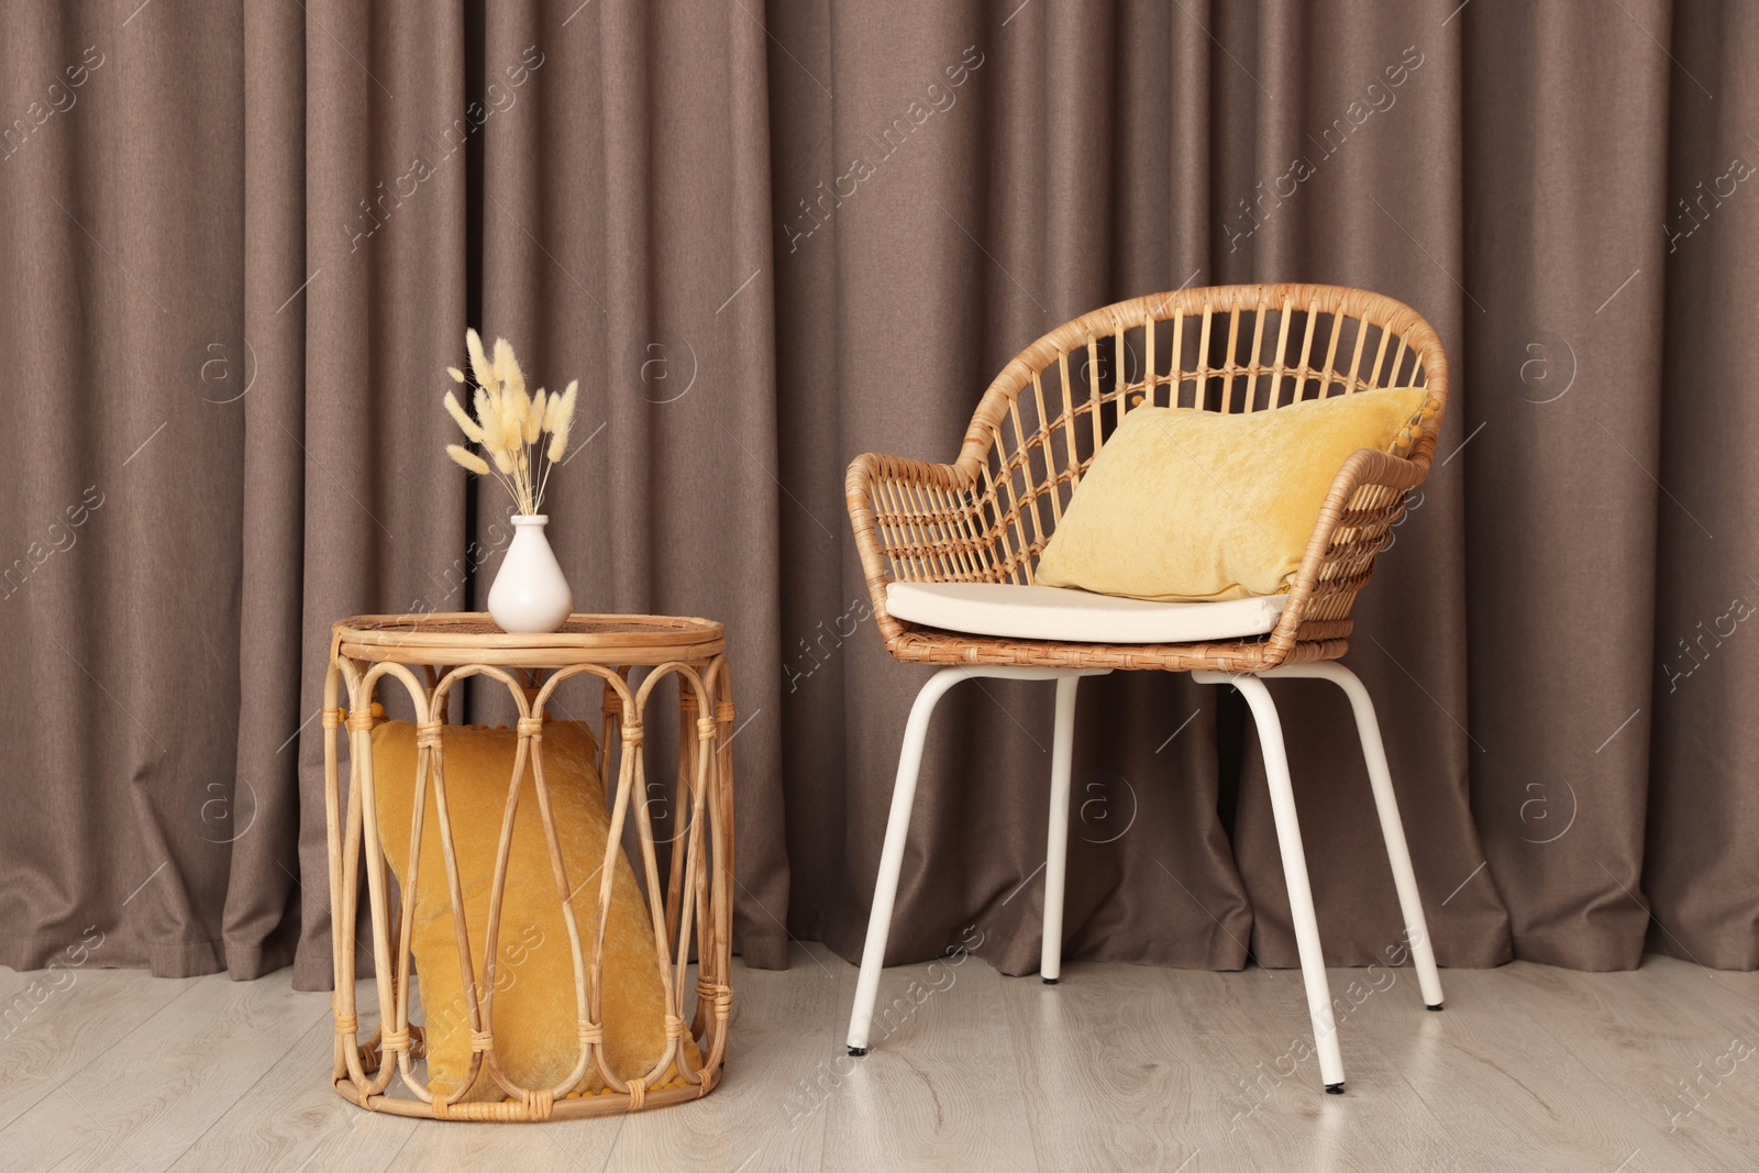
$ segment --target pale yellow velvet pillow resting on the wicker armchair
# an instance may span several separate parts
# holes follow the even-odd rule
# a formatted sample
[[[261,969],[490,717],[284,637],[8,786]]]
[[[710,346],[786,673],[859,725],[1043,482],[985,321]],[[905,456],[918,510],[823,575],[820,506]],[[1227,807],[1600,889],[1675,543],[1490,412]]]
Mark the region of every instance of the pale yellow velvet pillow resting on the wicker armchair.
[[[1268,412],[1136,408],[1082,475],[1034,577],[1168,603],[1281,594],[1344,461],[1405,455],[1435,406],[1421,387],[1388,387]]]

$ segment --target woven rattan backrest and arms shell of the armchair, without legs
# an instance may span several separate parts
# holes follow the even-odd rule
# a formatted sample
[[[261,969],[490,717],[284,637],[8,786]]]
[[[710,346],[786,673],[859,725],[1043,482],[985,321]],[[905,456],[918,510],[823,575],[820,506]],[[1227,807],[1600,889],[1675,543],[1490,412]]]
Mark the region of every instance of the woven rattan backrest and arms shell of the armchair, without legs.
[[[1268,412],[1379,387],[1435,401],[1407,457],[1360,450],[1332,482],[1268,637],[1224,644],[1057,644],[894,619],[890,582],[1034,580],[1082,473],[1136,408]],[[978,403],[952,464],[858,455],[850,521],[887,649],[911,663],[1249,672],[1335,659],[1374,556],[1423,484],[1448,401],[1448,359],[1409,306],[1335,285],[1228,285],[1117,302],[1022,350]]]

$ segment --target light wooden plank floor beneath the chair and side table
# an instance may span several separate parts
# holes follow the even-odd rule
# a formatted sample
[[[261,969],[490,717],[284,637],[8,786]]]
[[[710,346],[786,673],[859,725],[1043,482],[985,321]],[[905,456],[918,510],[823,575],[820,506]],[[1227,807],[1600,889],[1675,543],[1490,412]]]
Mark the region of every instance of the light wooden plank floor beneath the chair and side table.
[[[1409,969],[1386,973],[1379,990],[1332,973],[1333,994],[1372,992],[1340,1027],[1349,1094],[1325,1096],[1293,971],[1069,964],[1045,987],[980,958],[901,967],[881,1001],[920,1004],[850,1060],[855,969],[797,946],[786,973],[737,969],[728,1073],[705,1101],[466,1126],[345,1104],[329,997],[294,994],[288,971],[74,971],[0,1025],[0,1168],[1759,1168],[1759,974],[1442,971],[1434,1015]],[[28,981],[0,969],[0,1008]]]

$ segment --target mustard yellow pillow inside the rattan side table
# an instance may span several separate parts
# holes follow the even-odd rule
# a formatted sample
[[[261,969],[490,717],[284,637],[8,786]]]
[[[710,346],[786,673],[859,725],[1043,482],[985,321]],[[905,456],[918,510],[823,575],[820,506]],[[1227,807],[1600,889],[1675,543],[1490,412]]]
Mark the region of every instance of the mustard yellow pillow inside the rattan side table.
[[[447,725],[443,732],[447,809],[457,853],[471,965],[482,981],[482,948],[489,925],[494,855],[501,839],[507,788],[514,772],[517,733],[508,728]],[[378,837],[398,883],[408,888],[410,821],[415,797],[415,726],[385,721],[373,728],[373,786]],[[544,725],[544,781],[573,888],[580,944],[591,965],[598,925],[600,869],[610,816],[598,779],[598,746],[579,721]],[[412,951],[420,980],[427,1041],[427,1085],[456,1094],[470,1071],[470,1018],[459,974],[440,816],[429,786],[422,812],[422,858],[417,876]],[[405,895],[405,899],[408,899]],[[396,948],[392,944],[392,948]],[[531,763],[519,791],[507,893],[501,902],[500,953],[494,976],[494,1055],[521,1087],[556,1087],[579,1059],[575,1029],[573,951],[556,899],[549,842],[536,802]],[[619,849],[612,878],[610,920],[605,925],[603,1027],[610,1069],[617,1078],[646,1076],[667,1045],[665,994],[654,957],[654,930],[635,872]],[[691,1067],[702,1057],[684,1039]],[[596,1066],[588,1090],[603,1087]],[[501,1099],[501,1087],[484,1073],[470,1101]]]

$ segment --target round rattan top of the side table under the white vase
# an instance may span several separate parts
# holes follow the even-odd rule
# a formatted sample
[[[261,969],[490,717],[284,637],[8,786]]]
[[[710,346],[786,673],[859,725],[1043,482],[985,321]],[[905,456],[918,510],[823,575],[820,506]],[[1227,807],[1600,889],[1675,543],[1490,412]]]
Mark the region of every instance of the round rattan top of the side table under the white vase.
[[[561,631],[529,635],[501,631],[487,612],[354,616],[338,623],[331,638],[350,659],[447,667],[704,663],[726,651],[719,623],[681,616],[575,614]]]

